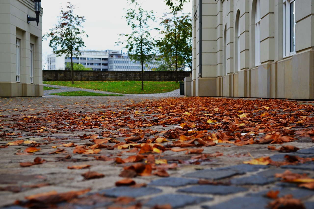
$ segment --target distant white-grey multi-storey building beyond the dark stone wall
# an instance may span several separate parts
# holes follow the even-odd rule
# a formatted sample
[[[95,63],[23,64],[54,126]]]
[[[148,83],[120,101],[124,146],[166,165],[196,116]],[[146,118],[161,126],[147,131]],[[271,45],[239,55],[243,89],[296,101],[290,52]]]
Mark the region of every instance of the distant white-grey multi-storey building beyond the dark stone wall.
[[[132,61],[126,53],[106,50],[81,50],[81,55],[73,57],[73,63],[82,64],[84,67],[97,71],[140,71],[140,62]],[[47,70],[64,70],[67,63],[71,63],[71,57],[51,54],[47,58]],[[150,71],[159,67],[158,61],[145,63],[144,70]]]

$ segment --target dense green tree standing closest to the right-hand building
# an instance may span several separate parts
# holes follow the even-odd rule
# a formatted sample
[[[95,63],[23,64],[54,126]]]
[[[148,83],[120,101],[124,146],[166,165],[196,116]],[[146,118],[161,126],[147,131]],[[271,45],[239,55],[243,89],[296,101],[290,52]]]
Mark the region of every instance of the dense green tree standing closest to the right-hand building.
[[[157,41],[160,51],[161,68],[177,71],[190,68],[192,70],[192,17],[190,13],[181,14],[181,10],[173,9],[166,13],[162,22],[164,27],[160,34],[161,40]]]

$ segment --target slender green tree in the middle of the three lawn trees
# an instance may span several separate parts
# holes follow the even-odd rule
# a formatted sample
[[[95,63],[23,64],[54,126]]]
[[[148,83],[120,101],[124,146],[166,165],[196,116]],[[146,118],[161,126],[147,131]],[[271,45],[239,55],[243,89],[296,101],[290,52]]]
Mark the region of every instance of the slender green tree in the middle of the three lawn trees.
[[[149,21],[154,21],[154,12],[147,12],[142,8],[142,5],[137,0],[128,1],[135,8],[126,10],[127,25],[132,28],[131,34],[120,34],[126,38],[126,46],[128,56],[134,62],[139,61],[142,66],[142,90],[144,89],[144,65],[151,62],[154,57],[154,40],[150,35],[152,30],[149,27]],[[123,44],[123,41],[118,41],[118,44]]]

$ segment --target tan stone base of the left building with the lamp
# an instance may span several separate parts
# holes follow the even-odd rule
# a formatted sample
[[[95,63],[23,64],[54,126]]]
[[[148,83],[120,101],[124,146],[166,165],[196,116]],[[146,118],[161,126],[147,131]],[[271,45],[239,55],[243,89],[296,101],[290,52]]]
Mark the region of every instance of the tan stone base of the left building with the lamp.
[[[0,97],[43,96],[43,85],[28,83],[0,83]]]

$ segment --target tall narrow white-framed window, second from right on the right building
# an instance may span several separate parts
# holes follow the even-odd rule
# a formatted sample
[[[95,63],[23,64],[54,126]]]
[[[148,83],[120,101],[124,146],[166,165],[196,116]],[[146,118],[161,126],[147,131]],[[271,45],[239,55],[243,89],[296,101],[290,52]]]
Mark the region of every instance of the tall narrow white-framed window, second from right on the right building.
[[[255,66],[261,64],[261,13],[260,0],[256,1],[255,8]]]

